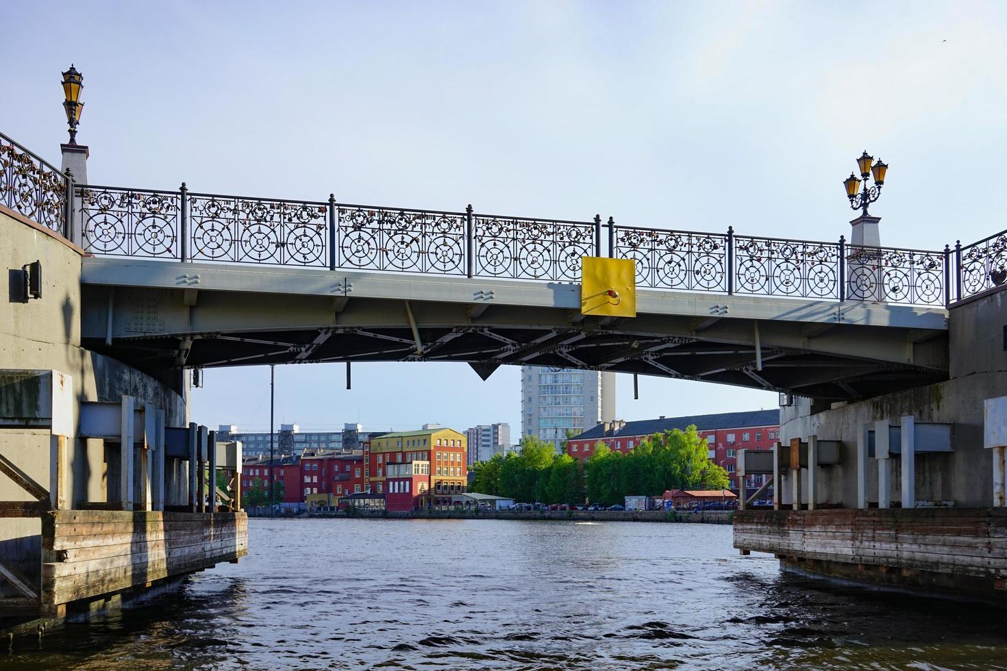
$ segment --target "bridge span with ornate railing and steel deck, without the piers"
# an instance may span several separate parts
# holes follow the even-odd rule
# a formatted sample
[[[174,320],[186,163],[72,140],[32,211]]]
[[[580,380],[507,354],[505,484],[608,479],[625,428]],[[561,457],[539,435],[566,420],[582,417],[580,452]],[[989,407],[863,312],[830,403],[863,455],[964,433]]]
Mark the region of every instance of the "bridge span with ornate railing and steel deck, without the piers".
[[[3,137],[37,174],[8,206],[89,255],[83,342],[160,376],[464,361],[852,400],[946,379],[948,308],[1007,275],[1003,233],[916,250],[77,184]],[[584,257],[634,261],[635,318],[581,314]]]

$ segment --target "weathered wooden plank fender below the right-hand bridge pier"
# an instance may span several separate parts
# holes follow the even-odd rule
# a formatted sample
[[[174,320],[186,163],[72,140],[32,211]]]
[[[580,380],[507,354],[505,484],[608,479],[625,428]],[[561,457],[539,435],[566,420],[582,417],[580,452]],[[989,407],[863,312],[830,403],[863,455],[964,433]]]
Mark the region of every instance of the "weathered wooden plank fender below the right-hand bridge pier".
[[[737,511],[734,546],[808,559],[998,579],[1007,577],[1007,511]]]

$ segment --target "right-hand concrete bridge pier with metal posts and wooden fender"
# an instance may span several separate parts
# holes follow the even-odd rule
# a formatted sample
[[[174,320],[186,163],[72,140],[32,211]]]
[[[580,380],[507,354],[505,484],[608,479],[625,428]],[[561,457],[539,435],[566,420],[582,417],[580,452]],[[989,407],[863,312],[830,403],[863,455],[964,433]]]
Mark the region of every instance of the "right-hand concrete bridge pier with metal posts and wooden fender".
[[[735,547],[806,574],[1007,604],[1002,291],[950,310],[948,381],[781,408],[787,449],[744,462],[747,473],[786,469],[776,492],[792,509],[737,511]]]

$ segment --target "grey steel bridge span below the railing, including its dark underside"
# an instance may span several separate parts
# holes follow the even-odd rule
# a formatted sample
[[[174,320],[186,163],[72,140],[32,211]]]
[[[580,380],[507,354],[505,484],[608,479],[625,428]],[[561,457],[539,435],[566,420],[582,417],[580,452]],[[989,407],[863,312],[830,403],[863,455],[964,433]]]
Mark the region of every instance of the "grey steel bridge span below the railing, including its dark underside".
[[[943,307],[640,290],[636,317],[600,318],[571,282],[111,258],[82,283],[85,342],[141,369],[534,364],[836,400],[947,376]]]

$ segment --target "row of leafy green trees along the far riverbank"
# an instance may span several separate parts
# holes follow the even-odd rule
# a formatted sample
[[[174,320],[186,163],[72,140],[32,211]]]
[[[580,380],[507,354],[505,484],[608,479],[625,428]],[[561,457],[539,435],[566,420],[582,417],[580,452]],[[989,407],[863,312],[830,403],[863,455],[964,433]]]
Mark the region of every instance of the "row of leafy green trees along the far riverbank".
[[[668,489],[723,489],[727,471],[709,459],[696,427],[655,434],[623,455],[603,443],[584,462],[534,436],[517,453],[493,455],[470,467],[470,490],[515,501],[612,505],[626,496],[661,496]]]

